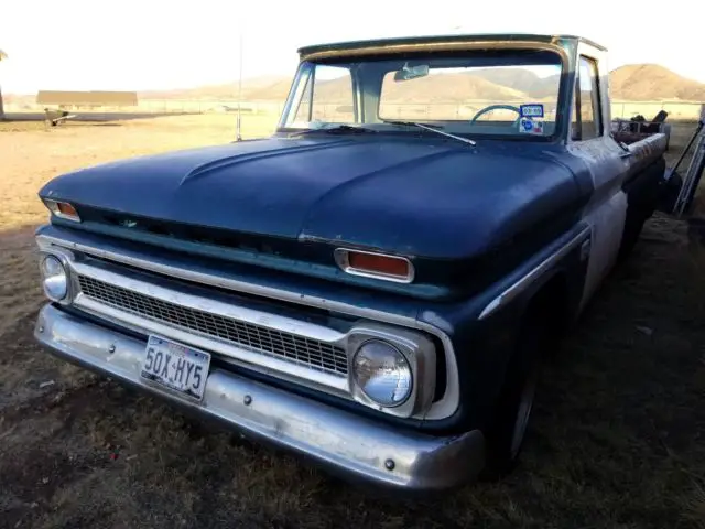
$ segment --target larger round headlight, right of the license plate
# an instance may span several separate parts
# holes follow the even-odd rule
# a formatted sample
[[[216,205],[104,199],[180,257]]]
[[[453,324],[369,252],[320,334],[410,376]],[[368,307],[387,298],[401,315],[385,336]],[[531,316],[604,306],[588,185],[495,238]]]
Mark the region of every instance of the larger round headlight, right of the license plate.
[[[402,404],[411,395],[411,367],[397,347],[379,339],[365,342],[355,354],[352,376],[360,390],[388,408]]]

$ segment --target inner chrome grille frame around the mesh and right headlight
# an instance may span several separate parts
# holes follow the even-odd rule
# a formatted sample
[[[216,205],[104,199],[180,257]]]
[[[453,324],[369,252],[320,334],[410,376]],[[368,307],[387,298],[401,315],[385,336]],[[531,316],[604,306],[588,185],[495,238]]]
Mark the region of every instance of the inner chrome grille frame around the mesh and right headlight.
[[[48,255],[50,251],[46,251]],[[68,255],[65,249],[53,249],[51,255],[61,257]],[[317,390],[326,391],[338,397],[352,399],[387,414],[408,418],[414,413],[427,410],[435,390],[435,347],[422,334],[405,327],[392,327],[375,322],[359,322],[351,324],[347,331],[339,332],[322,325],[281,316],[270,312],[261,312],[234,303],[219,301],[217,298],[204,298],[175,288],[162,287],[160,282],[143,281],[133,277],[109,270],[111,264],[101,263],[99,267],[86,262],[66,259],[66,269],[73,282],[78,285],[74,306],[84,312],[107,319],[118,325],[135,330],[141,334],[162,335],[196,348],[212,350],[225,356],[226,361],[243,366],[259,373],[272,375],[295,384],[303,384]],[[340,347],[347,353],[348,373],[332,373],[318,369],[315,364],[305,364],[293,358],[284,358],[259,348],[250,349],[227,339],[220,339],[208,333],[202,333],[177,324],[170,324],[151,319],[144,314],[134,314],[128,310],[116,307],[109,303],[96,300],[80,290],[78,278],[87,278],[107,283],[111,287],[145,295],[155,301],[164,301],[181,307],[203,311],[229,320],[258,325],[264,328],[293,334],[302,338],[310,338],[322,344]],[[398,407],[383,408],[372,402],[361,393],[352,378],[352,354],[357,346],[369,338],[382,338],[399,347],[409,360],[414,378],[423,384],[414,387],[406,402]]]

